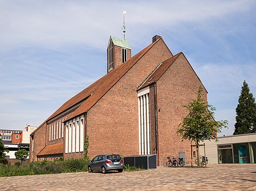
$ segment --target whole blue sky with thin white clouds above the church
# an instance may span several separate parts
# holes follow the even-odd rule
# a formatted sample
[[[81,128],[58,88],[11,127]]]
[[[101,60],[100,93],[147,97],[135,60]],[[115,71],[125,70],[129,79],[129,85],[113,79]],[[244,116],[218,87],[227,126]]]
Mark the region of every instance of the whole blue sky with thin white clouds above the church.
[[[132,56],[160,35],[183,52],[232,135],[243,80],[256,96],[256,1],[0,0],[0,129],[39,126],[106,74],[109,36]]]

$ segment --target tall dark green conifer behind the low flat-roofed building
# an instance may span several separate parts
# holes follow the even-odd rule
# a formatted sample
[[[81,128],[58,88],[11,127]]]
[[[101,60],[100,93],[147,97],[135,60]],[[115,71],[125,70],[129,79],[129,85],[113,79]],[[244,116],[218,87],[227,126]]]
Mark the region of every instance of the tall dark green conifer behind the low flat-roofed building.
[[[256,104],[246,81],[243,81],[241,95],[236,108],[234,135],[256,132]]]

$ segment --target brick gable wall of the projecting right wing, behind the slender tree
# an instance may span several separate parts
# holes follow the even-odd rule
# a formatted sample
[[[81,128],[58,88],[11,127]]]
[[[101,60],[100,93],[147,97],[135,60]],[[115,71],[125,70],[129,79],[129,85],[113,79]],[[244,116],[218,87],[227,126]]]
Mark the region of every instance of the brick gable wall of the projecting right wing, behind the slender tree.
[[[181,54],[173,65],[156,82],[159,133],[159,158],[178,156],[185,152],[185,157],[191,157],[191,142],[182,141],[177,136],[177,127],[188,112],[183,107],[197,97],[201,82],[189,65],[184,55]],[[207,99],[207,91],[203,91]]]

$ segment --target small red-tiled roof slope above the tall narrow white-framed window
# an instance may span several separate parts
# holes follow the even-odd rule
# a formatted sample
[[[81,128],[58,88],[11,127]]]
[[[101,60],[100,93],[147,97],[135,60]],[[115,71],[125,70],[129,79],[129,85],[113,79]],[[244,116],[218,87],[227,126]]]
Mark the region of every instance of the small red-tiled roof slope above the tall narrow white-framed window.
[[[182,54],[181,52],[176,54],[175,56],[169,58],[168,60],[164,61],[163,63],[160,63],[158,67],[155,68],[155,70],[152,71],[150,75],[144,80],[144,82],[137,88],[137,90],[142,89],[143,87],[146,87],[152,83],[155,83],[157,80],[159,80],[162,75],[168,70],[168,68],[176,61],[176,59]]]

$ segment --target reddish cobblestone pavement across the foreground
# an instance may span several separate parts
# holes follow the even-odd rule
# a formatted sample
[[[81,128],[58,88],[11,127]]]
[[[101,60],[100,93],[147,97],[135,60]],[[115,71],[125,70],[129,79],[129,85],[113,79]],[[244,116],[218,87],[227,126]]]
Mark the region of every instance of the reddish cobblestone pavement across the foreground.
[[[256,190],[256,164],[0,177],[0,190]]]

